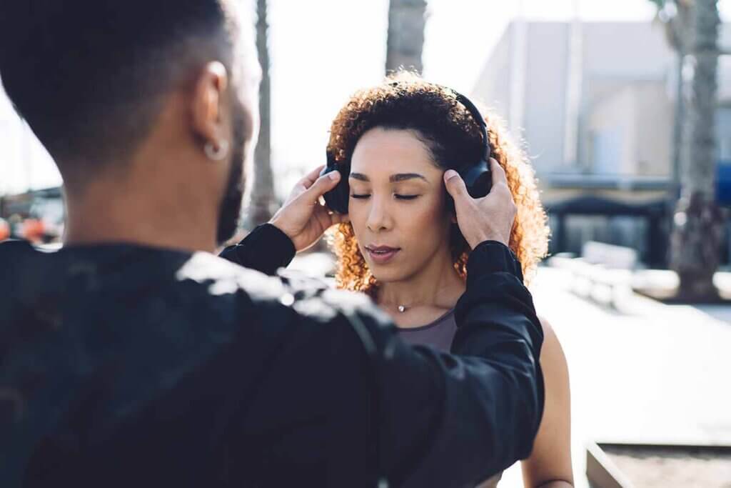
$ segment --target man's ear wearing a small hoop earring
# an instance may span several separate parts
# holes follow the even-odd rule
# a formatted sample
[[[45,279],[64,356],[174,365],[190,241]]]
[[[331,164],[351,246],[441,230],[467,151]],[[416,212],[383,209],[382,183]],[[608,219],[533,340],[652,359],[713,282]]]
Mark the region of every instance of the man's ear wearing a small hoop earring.
[[[219,61],[212,61],[203,67],[195,80],[192,97],[192,128],[204,143],[215,149],[228,144],[224,100],[229,78],[226,67]]]

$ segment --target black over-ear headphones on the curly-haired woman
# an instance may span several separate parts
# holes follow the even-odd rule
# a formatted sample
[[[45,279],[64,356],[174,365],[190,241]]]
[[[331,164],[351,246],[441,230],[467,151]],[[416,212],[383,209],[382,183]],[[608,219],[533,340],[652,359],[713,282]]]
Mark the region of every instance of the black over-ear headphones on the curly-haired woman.
[[[477,124],[480,126],[480,132],[482,133],[482,157],[480,158],[480,160],[474,163],[466,163],[462,166],[458,166],[456,170],[457,173],[459,173],[459,175],[464,180],[464,184],[467,187],[467,192],[469,192],[469,195],[472,198],[482,198],[490,192],[493,183],[490,163],[488,162],[490,160],[491,149],[490,140],[488,140],[487,124],[485,123],[485,119],[480,114],[480,110],[477,110],[477,107],[475,107],[474,104],[470,102],[469,98],[465,97],[463,94],[459,94],[456,91],[454,91],[454,94],[457,96],[457,101],[464,105],[465,108],[469,110],[472,118],[477,121]],[[348,200],[350,198],[350,185],[348,184],[347,178],[348,175],[338,168],[338,164],[335,160],[335,154],[333,154],[329,150],[326,151],[326,154],[327,166],[322,169],[322,171],[320,172],[320,176],[330,173],[331,171],[340,171],[342,178],[340,181],[338,181],[338,184],[335,188],[331,189],[329,192],[325,193],[325,195],[322,196],[323,198],[325,198],[325,203],[327,204],[327,207],[330,208],[330,210],[336,211],[338,212],[338,214],[347,214]],[[349,161],[341,162],[340,166],[346,168],[347,173],[350,172]],[[448,204],[450,205],[450,209],[453,211],[454,200],[452,199],[452,196],[449,195],[449,193],[447,193],[447,198],[449,198]]]

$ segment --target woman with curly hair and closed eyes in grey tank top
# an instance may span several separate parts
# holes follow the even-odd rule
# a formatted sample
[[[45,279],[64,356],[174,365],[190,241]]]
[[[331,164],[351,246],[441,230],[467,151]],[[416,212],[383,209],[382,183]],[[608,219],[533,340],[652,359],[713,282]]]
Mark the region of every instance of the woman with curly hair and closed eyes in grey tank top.
[[[527,285],[548,248],[545,212],[526,157],[494,117],[486,122],[491,155],[518,207],[510,248]],[[450,89],[401,72],[346,103],[327,149],[349,184],[349,222],[329,235],[338,287],[368,293],[406,341],[449,350],[470,248],[443,176],[480,160],[477,122]],[[556,334],[542,325],[545,412],[531,457],[522,462],[523,480],[526,487],[567,488],[573,486],[567,363]]]

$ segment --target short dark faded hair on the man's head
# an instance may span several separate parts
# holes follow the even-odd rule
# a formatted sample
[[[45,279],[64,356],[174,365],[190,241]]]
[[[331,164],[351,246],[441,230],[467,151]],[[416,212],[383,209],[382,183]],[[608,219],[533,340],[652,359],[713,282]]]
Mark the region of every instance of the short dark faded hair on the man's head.
[[[225,0],[4,1],[0,78],[62,172],[124,157],[161,95],[202,62],[230,69],[230,17]]]

